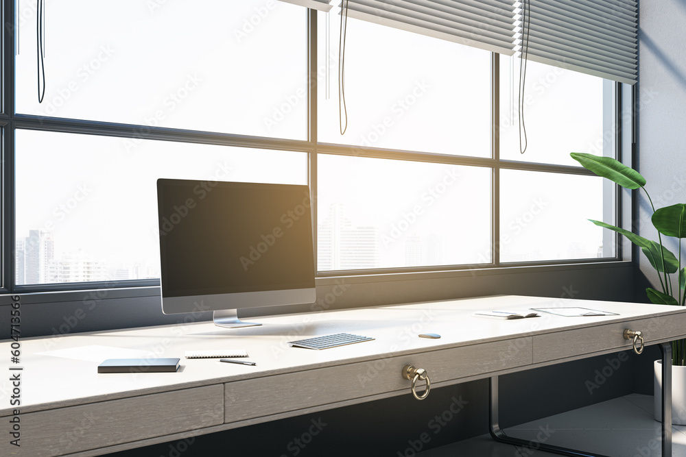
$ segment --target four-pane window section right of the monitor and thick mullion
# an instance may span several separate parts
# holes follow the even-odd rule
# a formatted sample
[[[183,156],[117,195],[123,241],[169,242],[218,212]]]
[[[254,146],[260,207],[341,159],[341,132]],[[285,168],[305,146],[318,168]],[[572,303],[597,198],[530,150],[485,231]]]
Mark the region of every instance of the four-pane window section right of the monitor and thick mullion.
[[[612,82],[528,62],[520,93],[519,58],[353,18],[340,62],[331,21],[320,14],[320,271],[615,256],[587,220],[613,223],[613,190],[569,156],[615,155]]]

